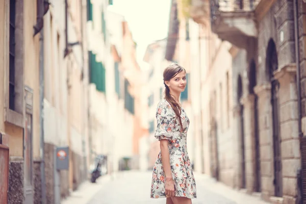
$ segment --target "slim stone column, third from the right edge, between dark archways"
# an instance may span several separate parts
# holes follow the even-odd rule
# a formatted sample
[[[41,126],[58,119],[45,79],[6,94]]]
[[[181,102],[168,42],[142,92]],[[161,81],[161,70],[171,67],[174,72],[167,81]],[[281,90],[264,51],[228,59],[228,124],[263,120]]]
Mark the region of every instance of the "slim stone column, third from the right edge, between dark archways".
[[[255,142],[255,115],[254,94],[248,94],[241,99],[244,118],[244,154],[245,154],[245,179],[248,193],[253,192],[256,181],[256,142]]]

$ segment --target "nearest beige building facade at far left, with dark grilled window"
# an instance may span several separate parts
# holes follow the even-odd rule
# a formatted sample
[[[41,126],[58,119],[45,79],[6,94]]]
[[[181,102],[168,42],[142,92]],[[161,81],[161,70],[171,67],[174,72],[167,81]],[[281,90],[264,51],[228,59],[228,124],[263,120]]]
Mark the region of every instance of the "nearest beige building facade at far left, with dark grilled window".
[[[33,203],[40,197],[42,17],[40,1],[1,1],[1,200]],[[33,8],[35,8],[33,10]],[[37,9],[36,9],[37,8]],[[45,8],[45,10],[43,9]],[[29,23],[30,22],[30,23]],[[34,29],[33,29],[34,27]],[[8,151],[9,150],[9,155]],[[36,182],[38,181],[38,182]],[[38,202],[37,202],[38,203]]]

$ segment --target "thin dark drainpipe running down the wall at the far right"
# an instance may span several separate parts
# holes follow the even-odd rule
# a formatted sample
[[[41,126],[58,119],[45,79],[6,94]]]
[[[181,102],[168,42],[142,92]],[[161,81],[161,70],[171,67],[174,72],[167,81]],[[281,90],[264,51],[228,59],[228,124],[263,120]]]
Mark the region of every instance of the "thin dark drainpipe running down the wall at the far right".
[[[295,41],[295,64],[296,64],[296,87],[297,87],[297,110],[298,110],[298,136],[301,139],[303,137],[302,132],[302,113],[301,113],[301,91],[300,91],[300,64],[299,64],[299,40],[298,40],[298,1],[293,1],[293,14],[294,14],[294,41]],[[300,142],[300,150],[302,148]],[[298,199],[300,199],[298,202],[301,203],[303,200],[303,185],[301,182],[301,179],[303,177],[302,174],[302,161],[303,158],[301,158],[301,169],[297,172],[298,177]]]

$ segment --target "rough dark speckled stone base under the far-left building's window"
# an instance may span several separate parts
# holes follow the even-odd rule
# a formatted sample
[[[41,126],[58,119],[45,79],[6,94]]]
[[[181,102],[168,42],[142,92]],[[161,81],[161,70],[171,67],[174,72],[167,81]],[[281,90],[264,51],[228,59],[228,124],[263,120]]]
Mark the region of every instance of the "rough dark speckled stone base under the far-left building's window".
[[[19,204],[24,201],[23,159],[10,161],[8,204]]]

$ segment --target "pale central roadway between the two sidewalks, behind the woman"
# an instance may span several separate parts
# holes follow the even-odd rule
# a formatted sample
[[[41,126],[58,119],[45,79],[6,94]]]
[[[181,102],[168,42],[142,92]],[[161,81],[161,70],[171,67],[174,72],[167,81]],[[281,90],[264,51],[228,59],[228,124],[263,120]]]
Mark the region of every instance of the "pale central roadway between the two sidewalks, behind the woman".
[[[196,178],[197,179],[197,178]],[[165,198],[150,198],[151,172],[124,172],[113,181],[105,184],[88,204],[164,204]],[[216,194],[203,185],[200,179],[197,182],[198,198],[193,199],[194,204],[235,204],[219,194]]]

